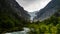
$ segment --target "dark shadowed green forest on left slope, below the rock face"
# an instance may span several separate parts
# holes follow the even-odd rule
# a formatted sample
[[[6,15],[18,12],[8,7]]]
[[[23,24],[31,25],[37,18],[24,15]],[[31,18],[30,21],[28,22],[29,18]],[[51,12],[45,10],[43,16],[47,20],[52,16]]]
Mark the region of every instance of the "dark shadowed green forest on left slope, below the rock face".
[[[17,14],[3,10],[0,11],[0,33],[22,30],[23,20]]]

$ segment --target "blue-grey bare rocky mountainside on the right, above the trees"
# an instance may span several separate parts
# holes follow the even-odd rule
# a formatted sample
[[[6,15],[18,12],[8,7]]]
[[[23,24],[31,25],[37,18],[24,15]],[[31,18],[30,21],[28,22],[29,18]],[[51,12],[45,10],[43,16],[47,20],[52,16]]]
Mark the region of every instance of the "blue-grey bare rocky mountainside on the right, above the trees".
[[[47,4],[46,7],[39,10],[39,12],[36,13],[35,20],[44,20],[49,18],[51,15],[53,15],[58,9],[60,9],[60,0],[52,0]]]

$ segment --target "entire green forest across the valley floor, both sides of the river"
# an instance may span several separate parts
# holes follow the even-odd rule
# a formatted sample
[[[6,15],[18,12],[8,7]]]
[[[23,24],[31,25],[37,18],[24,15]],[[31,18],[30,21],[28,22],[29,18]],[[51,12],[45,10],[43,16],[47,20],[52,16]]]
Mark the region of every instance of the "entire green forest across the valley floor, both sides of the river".
[[[23,27],[28,27],[33,28],[29,34],[60,34],[60,10],[46,20],[32,23],[16,17],[11,18],[8,14],[0,12],[0,33],[21,31]]]

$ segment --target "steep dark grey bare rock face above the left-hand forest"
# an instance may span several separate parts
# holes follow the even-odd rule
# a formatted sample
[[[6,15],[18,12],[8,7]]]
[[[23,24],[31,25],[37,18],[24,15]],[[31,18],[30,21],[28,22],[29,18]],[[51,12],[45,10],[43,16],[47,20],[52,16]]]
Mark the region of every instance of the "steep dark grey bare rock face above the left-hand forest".
[[[29,19],[30,15],[27,11],[23,9],[15,0],[0,0],[1,9],[10,10],[12,13],[16,13],[17,15]],[[26,16],[26,17],[25,17]]]

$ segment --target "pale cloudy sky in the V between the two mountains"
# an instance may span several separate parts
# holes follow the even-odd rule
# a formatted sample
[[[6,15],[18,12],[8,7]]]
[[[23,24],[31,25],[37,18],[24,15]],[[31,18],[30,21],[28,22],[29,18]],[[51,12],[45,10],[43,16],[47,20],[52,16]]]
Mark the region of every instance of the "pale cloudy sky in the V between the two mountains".
[[[24,10],[28,12],[38,11],[44,8],[51,0],[16,0]]]

